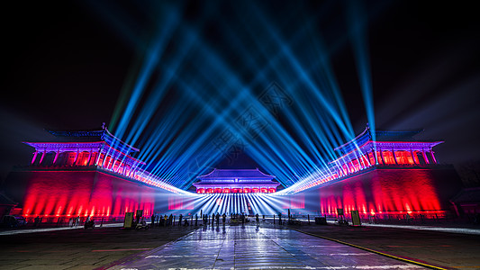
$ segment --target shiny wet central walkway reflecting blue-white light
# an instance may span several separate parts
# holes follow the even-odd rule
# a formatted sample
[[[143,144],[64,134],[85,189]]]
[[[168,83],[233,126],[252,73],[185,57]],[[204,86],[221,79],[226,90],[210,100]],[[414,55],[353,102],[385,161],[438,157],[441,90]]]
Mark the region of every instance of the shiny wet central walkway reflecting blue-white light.
[[[205,226],[109,269],[423,269],[291,229]]]

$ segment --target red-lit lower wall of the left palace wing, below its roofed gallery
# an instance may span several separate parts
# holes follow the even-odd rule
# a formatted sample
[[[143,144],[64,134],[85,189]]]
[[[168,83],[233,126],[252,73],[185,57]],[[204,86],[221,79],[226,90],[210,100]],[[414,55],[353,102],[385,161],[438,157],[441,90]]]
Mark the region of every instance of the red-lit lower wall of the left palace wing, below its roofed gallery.
[[[26,171],[9,175],[7,189],[25,216],[123,217],[155,206],[155,190],[99,171]]]

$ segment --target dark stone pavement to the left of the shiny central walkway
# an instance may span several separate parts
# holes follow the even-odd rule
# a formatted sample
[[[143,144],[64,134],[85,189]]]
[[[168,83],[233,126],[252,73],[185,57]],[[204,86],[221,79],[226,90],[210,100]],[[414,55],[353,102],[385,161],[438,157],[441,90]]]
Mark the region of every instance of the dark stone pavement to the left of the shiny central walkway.
[[[0,235],[0,269],[95,269],[160,247],[195,227],[42,230]]]

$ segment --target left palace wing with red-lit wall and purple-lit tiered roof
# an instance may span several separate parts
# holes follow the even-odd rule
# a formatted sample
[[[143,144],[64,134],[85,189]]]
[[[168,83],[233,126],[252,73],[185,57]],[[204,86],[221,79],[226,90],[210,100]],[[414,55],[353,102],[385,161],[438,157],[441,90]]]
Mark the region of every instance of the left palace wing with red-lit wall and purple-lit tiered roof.
[[[178,189],[142,169],[138,148],[101,130],[49,131],[55,141],[24,142],[34,149],[29,166],[16,166],[5,189],[21,214],[45,217],[122,217],[154,211],[156,195]]]

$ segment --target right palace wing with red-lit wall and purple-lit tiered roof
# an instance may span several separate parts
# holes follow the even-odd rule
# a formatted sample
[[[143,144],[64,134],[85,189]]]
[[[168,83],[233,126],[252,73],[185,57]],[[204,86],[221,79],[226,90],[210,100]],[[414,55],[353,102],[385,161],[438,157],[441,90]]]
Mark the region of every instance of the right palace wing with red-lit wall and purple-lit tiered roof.
[[[374,134],[367,126],[335,148],[339,158],[321,173],[291,186],[285,208],[327,215],[357,210],[364,217],[454,213],[449,200],[461,188],[459,176],[435,157],[433,148],[443,141],[415,139],[420,132]]]

